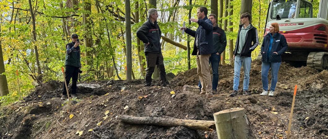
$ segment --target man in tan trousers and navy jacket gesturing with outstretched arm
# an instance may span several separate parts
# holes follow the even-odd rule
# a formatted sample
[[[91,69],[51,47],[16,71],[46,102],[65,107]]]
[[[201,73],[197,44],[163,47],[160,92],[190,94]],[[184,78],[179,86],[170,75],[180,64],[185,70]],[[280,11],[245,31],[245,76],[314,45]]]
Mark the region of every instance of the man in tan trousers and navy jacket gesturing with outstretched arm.
[[[200,7],[197,9],[198,19],[189,19],[192,22],[198,23],[196,31],[186,27],[185,32],[193,37],[194,50],[192,55],[196,55],[197,58],[197,74],[202,85],[201,93],[199,95],[207,94],[207,97],[213,97],[211,75],[209,70],[209,58],[213,53],[213,26],[211,20],[207,18],[207,9]]]

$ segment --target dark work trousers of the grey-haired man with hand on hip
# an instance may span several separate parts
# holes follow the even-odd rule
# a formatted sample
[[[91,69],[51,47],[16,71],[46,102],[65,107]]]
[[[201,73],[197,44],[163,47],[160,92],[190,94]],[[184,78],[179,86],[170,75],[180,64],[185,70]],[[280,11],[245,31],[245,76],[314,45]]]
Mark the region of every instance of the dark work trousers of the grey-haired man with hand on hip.
[[[152,75],[155,70],[155,66],[159,69],[159,78],[161,83],[166,83],[166,72],[163,62],[162,53],[150,53],[145,52],[146,61],[147,61],[147,70],[146,70],[146,85],[152,84]]]

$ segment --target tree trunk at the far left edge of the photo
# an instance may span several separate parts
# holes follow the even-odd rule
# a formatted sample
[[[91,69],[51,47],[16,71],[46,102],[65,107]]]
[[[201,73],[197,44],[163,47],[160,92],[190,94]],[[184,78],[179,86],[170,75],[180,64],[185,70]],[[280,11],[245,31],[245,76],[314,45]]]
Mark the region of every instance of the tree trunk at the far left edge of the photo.
[[[2,18],[0,18],[0,32],[1,32],[1,21]],[[2,75],[2,73],[6,72],[5,71],[5,64],[3,60],[3,55],[2,55],[2,45],[1,45],[1,38],[0,38],[0,96],[5,96],[9,94],[8,90],[8,82],[6,75]]]

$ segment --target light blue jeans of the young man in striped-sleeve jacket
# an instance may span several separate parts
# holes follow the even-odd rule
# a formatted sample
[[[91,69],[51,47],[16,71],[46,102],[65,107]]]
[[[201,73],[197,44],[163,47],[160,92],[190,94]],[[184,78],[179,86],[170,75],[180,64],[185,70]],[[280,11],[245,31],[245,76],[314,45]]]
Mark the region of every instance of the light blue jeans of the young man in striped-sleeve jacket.
[[[239,56],[235,56],[234,90],[237,90],[238,91],[241,66],[244,67],[244,85],[243,85],[243,90],[244,91],[248,90],[248,85],[249,85],[249,72],[251,70],[251,62],[252,62],[252,58],[251,57],[244,57],[244,56],[239,57]]]

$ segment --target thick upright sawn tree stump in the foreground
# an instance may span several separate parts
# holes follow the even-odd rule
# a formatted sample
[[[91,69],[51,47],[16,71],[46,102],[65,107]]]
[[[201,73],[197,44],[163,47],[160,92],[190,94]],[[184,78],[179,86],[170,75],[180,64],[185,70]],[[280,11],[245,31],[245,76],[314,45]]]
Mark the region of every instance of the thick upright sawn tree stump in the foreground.
[[[213,114],[218,139],[255,139],[244,108],[232,108]]]

